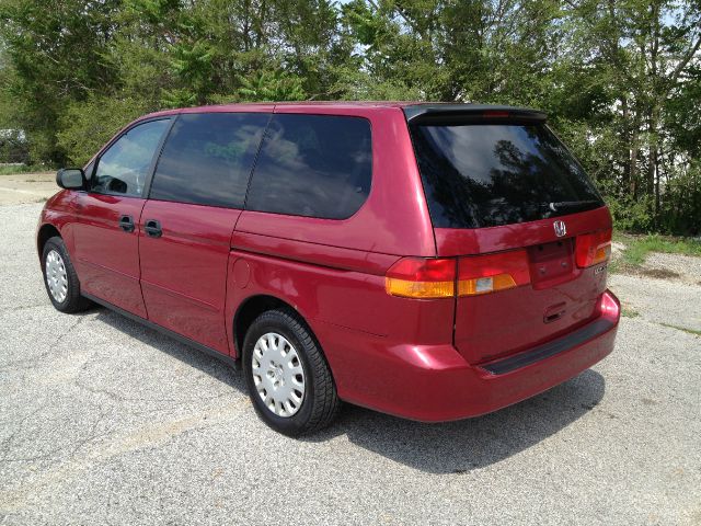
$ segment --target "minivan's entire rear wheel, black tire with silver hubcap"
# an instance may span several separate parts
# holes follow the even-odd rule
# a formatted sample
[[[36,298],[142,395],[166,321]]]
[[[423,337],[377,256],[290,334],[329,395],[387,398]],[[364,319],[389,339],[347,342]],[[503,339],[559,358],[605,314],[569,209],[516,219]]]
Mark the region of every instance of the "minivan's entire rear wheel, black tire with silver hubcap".
[[[258,316],[243,343],[249,395],[261,419],[289,436],[329,425],[341,401],[326,359],[294,311]]]

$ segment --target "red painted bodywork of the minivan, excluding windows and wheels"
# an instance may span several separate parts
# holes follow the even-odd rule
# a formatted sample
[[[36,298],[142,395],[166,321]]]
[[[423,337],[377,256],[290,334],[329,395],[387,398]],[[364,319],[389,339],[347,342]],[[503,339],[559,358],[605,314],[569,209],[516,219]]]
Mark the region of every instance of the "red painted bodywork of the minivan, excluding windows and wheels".
[[[192,112],[365,117],[372,128],[369,197],[350,218],[325,220],[60,192],[39,224],[60,231],[90,294],[232,356],[238,309],[273,296],[309,323],[342,399],[424,421],[494,411],[611,352],[620,309],[606,272],[572,264],[572,247],[556,244],[552,220],[433,229],[401,104],[225,105],[159,115]],[[134,216],[135,232],[119,229],[123,214]],[[149,219],[160,221],[160,238],[143,230]],[[567,239],[611,226],[606,207],[562,219]],[[467,275],[471,256],[515,249],[527,263],[480,260],[518,273],[519,286],[508,290],[428,300],[386,291],[386,275],[402,258],[447,260],[452,274],[459,261]],[[538,277],[541,266],[549,277]],[[607,332],[553,357],[504,375],[483,368],[601,318],[610,321]]]

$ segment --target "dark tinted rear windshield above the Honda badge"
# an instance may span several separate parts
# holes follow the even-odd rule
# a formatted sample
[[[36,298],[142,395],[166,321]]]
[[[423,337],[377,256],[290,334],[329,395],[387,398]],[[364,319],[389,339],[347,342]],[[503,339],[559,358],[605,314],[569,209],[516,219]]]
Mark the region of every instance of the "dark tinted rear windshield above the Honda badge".
[[[604,205],[542,124],[411,124],[410,130],[434,227],[497,227]]]

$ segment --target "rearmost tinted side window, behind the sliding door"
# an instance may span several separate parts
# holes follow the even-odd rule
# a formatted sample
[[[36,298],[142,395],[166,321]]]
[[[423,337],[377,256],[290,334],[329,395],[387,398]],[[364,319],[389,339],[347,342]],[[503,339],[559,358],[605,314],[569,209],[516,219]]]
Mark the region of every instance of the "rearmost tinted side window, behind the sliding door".
[[[246,208],[346,219],[365,203],[371,173],[367,119],[276,114],[261,146]]]

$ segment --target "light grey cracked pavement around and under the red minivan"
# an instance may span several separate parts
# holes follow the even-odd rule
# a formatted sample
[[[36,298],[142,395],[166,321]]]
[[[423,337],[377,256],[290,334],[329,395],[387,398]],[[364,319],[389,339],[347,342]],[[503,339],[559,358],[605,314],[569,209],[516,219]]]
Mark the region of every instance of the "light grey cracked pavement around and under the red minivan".
[[[701,524],[701,286],[616,275],[640,316],[531,400],[418,424],[346,407],[294,441],[241,376],[105,309],[55,311],[39,204],[0,206],[0,524]]]

